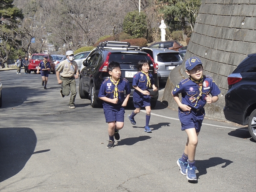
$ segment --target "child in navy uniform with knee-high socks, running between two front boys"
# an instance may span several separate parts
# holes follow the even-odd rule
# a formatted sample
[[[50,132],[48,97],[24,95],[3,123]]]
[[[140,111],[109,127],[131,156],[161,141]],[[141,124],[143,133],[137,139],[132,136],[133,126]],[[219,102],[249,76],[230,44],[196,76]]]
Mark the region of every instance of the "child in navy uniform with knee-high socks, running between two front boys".
[[[154,85],[154,78],[152,74],[148,73],[148,61],[139,61],[137,69],[139,72],[134,75],[132,82],[132,86],[135,89],[133,94],[135,110],[131,113],[131,115],[128,115],[128,119],[130,120],[132,125],[135,125],[136,122],[134,120],[134,116],[137,115],[137,113],[140,113],[140,108],[145,107],[146,125],[144,131],[147,133],[151,133],[151,129],[148,126],[151,112],[151,97],[150,91],[148,89],[152,86],[153,91],[157,91],[157,87]]]

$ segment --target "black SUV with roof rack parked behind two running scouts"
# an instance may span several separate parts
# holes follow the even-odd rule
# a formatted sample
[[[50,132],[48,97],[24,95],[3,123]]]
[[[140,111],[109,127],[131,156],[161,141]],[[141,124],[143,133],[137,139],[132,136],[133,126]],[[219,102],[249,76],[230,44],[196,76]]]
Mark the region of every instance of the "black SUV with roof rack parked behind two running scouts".
[[[79,95],[81,99],[91,100],[93,108],[102,105],[98,98],[99,89],[102,81],[109,78],[108,64],[111,61],[118,62],[121,67],[121,76],[127,79],[131,86],[131,97],[133,96],[134,87],[132,87],[133,76],[138,72],[137,64],[140,60],[146,60],[149,63],[149,73],[153,75],[154,84],[159,89],[157,77],[157,64],[151,56],[139,50],[140,47],[131,46],[127,42],[105,41],[94,49],[87,59],[83,62],[84,68],[80,71]],[[151,107],[154,108],[158,99],[158,90],[151,90]]]

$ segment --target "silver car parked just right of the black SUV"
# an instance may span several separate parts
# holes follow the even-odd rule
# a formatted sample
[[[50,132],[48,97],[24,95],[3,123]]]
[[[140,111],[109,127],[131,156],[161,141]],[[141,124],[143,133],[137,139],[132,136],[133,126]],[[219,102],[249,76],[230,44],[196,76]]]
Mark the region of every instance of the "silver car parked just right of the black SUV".
[[[170,72],[182,64],[182,58],[179,52],[170,49],[150,49],[142,47],[144,52],[147,52],[158,64],[157,74],[159,80],[166,81],[169,77]]]

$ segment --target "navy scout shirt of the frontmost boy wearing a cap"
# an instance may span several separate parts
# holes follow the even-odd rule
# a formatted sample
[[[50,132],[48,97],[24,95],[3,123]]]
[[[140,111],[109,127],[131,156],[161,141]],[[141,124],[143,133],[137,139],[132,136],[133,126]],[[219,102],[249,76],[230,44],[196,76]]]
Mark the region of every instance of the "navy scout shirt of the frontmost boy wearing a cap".
[[[202,109],[206,104],[206,96],[209,93],[212,96],[218,96],[221,93],[215,81],[210,76],[203,76],[202,95],[197,99],[200,94],[199,85],[192,81],[190,78],[183,79],[176,85],[172,94],[181,93],[181,103],[188,105],[192,109]]]

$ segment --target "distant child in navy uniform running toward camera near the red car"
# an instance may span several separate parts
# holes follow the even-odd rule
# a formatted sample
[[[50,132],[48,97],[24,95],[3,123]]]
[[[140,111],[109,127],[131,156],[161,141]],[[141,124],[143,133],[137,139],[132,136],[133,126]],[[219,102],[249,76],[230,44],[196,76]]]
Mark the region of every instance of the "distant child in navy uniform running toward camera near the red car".
[[[47,89],[46,85],[48,82],[49,71],[51,69],[51,64],[48,61],[47,55],[44,55],[44,61],[41,61],[38,64],[38,70],[36,73],[39,73],[39,68],[41,69],[42,86],[44,86],[44,89]]]

